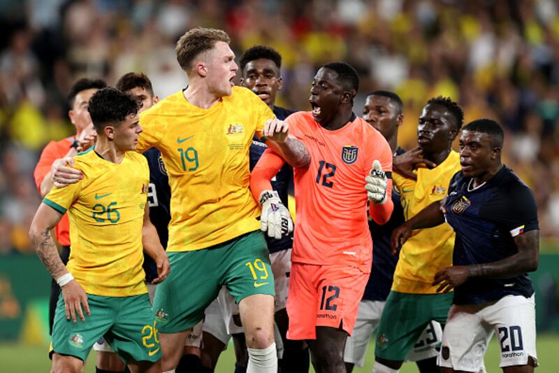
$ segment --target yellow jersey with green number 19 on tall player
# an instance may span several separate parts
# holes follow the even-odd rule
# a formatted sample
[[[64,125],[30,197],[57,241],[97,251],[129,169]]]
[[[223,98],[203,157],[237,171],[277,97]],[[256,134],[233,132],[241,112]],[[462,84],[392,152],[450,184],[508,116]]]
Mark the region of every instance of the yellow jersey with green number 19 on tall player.
[[[171,190],[167,251],[192,251],[258,230],[249,191],[249,146],[261,136],[268,105],[247,88],[208,109],[182,91],[140,114],[138,151],[161,151]]]

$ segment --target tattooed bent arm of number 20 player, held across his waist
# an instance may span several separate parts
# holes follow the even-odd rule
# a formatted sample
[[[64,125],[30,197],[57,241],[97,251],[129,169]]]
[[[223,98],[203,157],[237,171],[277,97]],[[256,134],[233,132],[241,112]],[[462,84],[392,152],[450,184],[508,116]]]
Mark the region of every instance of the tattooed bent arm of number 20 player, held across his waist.
[[[480,265],[447,267],[435,274],[433,286],[437,293],[447,293],[470,278],[507,279],[525,272],[533,272],[539,263],[539,230],[530,230],[514,237],[518,253],[496,262]]]

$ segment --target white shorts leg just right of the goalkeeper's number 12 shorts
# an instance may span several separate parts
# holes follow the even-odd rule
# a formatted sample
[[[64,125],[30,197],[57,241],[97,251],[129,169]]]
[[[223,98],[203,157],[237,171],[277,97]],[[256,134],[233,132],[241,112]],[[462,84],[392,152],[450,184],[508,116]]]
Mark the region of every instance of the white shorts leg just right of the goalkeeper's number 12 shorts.
[[[344,361],[346,363],[363,367],[372,333],[379,325],[382,309],[384,309],[382,301],[362,300],[359,303],[354,332],[347,337],[345,343]]]

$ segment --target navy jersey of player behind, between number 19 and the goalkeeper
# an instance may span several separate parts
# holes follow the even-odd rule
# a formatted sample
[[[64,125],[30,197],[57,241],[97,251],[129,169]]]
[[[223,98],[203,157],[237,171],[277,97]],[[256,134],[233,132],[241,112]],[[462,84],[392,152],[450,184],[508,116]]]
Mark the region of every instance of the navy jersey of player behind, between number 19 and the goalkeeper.
[[[279,120],[284,120],[289,117],[291,113],[295,112],[287,110],[286,108],[274,106],[274,114]],[[266,146],[266,144],[263,143],[258,136],[254,136],[252,139],[252,145],[249,148],[250,171],[254,169],[254,166],[256,166],[256,163],[266,148],[268,148],[268,146]],[[290,183],[293,183],[293,169],[291,169],[291,166],[286,163],[281,169],[279,169],[279,171],[277,171],[276,176],[272,179],[272,188],[277,191],[279,199],[282,200],[282,204],[285,206],[287,206],[287,190],[289,189]],[[293,247],[293,233],[290,233],[289,236],[282,237],[282,239],[274,239],[266,235],[266,241],[268,242],[268,250],[270,253],[276,253],[277,251]]]

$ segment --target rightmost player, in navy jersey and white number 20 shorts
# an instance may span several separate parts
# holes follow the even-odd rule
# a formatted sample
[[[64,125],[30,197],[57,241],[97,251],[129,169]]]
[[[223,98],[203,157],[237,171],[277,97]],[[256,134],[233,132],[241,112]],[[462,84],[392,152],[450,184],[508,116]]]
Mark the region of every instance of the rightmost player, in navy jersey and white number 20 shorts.
[[[504,133],[491,119],[468,123],[460,135],[462,170],[449,195],[395,232],[447,223],[456,232],[453,265],[433,281],[454,288],[438,363],[444,372],[478,372],[493,332],[499,337],[503,372],[537,367],[534,288],[527,272],[539,261],[539,223],[534,194],[501,162]]]

